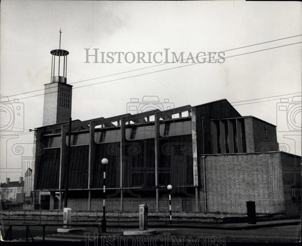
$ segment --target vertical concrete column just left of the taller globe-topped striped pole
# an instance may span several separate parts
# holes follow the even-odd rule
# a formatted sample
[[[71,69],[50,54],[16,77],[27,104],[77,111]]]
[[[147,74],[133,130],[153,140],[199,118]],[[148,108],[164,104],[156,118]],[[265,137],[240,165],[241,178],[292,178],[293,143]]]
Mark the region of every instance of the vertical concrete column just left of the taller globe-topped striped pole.
[[[88,157],[88,210],[91,210],[91,190],[92,185],[92,170],[95,162],[95,123],[89,124],[89,157]]]

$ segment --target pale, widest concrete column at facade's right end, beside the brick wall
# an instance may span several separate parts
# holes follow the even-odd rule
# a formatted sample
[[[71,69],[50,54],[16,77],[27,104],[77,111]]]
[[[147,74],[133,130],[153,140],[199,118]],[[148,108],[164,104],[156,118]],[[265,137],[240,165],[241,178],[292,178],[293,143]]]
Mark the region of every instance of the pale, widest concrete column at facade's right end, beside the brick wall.
[[[191,109],[191,129],[192,129],[192,157],[193,157],[193,185],[195,186],[195,211],[199,212],[198,199],[198,153],[197,153],[197,133],[196,133],[196,112]]]

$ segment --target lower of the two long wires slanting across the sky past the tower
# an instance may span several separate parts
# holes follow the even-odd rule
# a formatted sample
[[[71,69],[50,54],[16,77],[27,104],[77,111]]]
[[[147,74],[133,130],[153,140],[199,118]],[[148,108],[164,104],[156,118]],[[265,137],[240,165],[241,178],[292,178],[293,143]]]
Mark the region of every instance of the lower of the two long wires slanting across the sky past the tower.
[[[281,47],[285,47],[285,46],[289,46],[289,45],[294,45],[294,44],[300,44],[300,43],[302,43],[302,42],[297,42],[297,43],[293,43],[293,44],[285,44],[285,45],[276,46],[276,47],[267,48],[267,49],[262,49],[262,50],[258,50],[258,51],[246,52],[246,53],[242,53],[242,54],[227,56],[227,57],[224,57],[224,58],[226,59],[226,58],[230,58],[230,57],[236,57],[236,56],[241,56],[241,55],[246,55],[246,54],[252,54],[252,53],[256,53],[256,52],[260,52],[260,51],[266,51],[266,50],[281,48]],[[222,58],[214,59],[214,60],[209,60],[209,61],[207,61],[207,62],[210,62],[210,61],[217,61],[217,60],[220,60],[220,59],[222,59]],[[123,79],[129,79],[129,78],[133,78],[133,77],[138,77],[138,76],[142,76],[142,75],[153,74],[153,73],[162,72],[162,71],[168,71],[168,70],[172,70],[172,69],[176,69],[176,68],[180,68],[180,67],[188,67],[188,66],[196,65],[196,64],[200,64],[200,63],[186,64],[186,65],[182,65],[182,66],[178,66],[178,67],[171,67],[171,68],[162,69],[162,70],[153,71],[153,72],[148,72],[148,73],[144,73],[144,74],[136,74],[136,75],[132,75],[132,76],[129,76],[129,77],[118,78],[118,79],[114,79],[114,80],[107,80],[107,81],[98,82],[98,83],[95,83],[95,84],[83,85],[83,86],[79,86],[79,87],[72,88],[72,90],[75,90],[75,89],[77,89],[77,88],[86,87],[86,86],[92,86],[92,85],[96,85],[96,84],[103,84],[103,83],[108,83],[108,82],[113,82],[113,81],[118,81],[118,80],[123,80]],[[21,99],[26,99],[26,98],[31,98],[31,97],[42,96],[42,95],[46,95],[46,94],[50,94],[50,93],[56,93],[56,92],[58,92],[58,91],[52,91],[52,92],[43,93],[43,94],[38,94],[38,95],[33,95],[33,96],[29,96],[29,97],[22,97],[22,98],[19,98],[19,100],[21,100]],[[9,101],[12,101],[12,100],[9,100]]]

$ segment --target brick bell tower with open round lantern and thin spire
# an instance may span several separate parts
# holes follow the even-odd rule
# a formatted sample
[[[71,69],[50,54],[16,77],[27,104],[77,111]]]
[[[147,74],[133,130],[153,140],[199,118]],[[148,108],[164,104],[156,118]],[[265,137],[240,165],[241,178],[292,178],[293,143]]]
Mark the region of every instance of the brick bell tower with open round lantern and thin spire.
[[[67,84],[66,78],[69,52],[61,50],[61,33],[60,29],[59,49],[50,51],[51,78],[49,84],[44,84],[43,126],[65,122],[71,117],[72,85]]]

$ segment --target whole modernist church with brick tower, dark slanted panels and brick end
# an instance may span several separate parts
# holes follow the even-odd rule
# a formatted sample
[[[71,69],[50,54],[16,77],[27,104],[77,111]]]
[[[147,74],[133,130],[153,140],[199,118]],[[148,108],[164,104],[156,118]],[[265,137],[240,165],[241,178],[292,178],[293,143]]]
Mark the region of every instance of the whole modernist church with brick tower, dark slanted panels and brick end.
[[[68,51],[51,54],[34,168],[40,208],[50,210],[63,205],[72,100]],[[63,76],[54,76],[58,57]],[[171,194],[176,211],[246,213],[246,202],[255,201],[257,213],[300,217],[301,157],[278,151],[276,126],[241,116],[226,99],[172,108],[168,101],[144,97],[127,107],[142,113],[72,121],[68,207],[101,209],[101,159],[107,158],[110,210],[142,203],[169,208]]]

